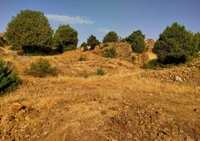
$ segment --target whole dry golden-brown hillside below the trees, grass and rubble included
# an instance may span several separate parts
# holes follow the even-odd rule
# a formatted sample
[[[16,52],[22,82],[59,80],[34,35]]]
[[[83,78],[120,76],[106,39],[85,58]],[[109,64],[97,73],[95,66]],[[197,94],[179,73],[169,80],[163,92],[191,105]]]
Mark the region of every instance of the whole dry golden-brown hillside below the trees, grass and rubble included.
[[[146,54],[153,55],[151,50],[152,42]],[[144,70],[138,54],[130,53],[137,57],[132,63],[69,51],[43,56],[58,76],[35,78],[24,70],[39,56],[8,47],[0,53],[21,78],[16,91],[0,97],[0,140],[200,139],[199,59],[179,68]],[[105,75],[96,74],[99,68]],[[176,76],[183,82],[175,82]]]

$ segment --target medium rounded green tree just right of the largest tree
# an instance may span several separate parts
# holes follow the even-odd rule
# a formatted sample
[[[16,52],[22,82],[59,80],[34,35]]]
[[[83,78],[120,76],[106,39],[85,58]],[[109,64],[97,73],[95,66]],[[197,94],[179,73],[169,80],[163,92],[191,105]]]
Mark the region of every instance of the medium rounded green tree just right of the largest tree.
[[[61,53],[75,50],[78,44],[78,32],[69,25],[60,25],[54,36],[54,45]]]

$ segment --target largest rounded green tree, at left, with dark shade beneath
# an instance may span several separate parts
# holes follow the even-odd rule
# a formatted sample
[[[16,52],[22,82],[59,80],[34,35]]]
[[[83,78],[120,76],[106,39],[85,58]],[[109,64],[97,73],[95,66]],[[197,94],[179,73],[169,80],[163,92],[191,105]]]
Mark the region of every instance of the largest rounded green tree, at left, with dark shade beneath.
[[[53,30],[40,11],[21,10],[6,28],[6,39],[12,45],[22,46],[25,52],[44,51],[52,44]]]

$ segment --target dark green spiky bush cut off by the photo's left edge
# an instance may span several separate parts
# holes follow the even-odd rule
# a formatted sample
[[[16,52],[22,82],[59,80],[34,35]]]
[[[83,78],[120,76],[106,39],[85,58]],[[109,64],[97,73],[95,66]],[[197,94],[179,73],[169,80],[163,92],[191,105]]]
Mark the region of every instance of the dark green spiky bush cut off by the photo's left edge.
[[[0,96],[13,91],[17,88],[18,84],[18,73],[13,72],[11,63],[5,63],[0,58]]]

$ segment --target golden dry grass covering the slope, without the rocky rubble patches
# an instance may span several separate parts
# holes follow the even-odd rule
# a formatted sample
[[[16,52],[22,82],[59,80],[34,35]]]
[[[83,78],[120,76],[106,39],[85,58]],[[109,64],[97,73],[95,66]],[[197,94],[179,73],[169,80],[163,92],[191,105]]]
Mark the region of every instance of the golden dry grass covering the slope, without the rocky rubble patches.
[[[163,126],[161,131],[168,126],[174,130],[176,127],[183,130],[181,135],[178,130],[175,130],[175,134],[170,130],[168,134],[173,136],[172,139],[186,136],[199,139],[200,89],[186,84],[163,83],[155,78],[142,78],[139,74],[144,70],[135,68],[132,63],[101,58],[90,52],[82,54],[87,55],[84,62],[78,61],[80,52],[45,57],[60,70],[58,76],[47,78],[23,74],[28,64],[39,57],[14,61],[23,84],[16,91],[0,97],[0,115],[8,114],[8,107],[13,102],[32,107],[29,130],[21,133],[28,134],[34,130],[31,140],[120,140],[130,134],[138,139],[151,139],[149,134],[144,137],[140,133],[127,131],[128,124],[124,124],[124,121],[134,118],[133,114],[126,114],[126,117],[120,119],[119,123],[123,123],[123,126],[118,124],[114,128],[114,124],[110,128],[106,124],[115,114],[120,117],[127,106],[128,111],[134,113],[135,106],[147,111],[146,115],[158,112],[156,120]],[[106,72],[103,76],[93,73],[100,66]],[[83,77],[85,72],[90,74],[87,79]],[[139,118],[142,120],[143,116]],[[19,124],[24,124],[24,121]],[[143,127],[138,126],[142,130]],[[133,129],[137,130],[132,126],[130,131]],[[107,134],[108,130],[117,132]],[[123,134],[117,136],[116,133]],[[161,139],[167,138],[163,135]]]

